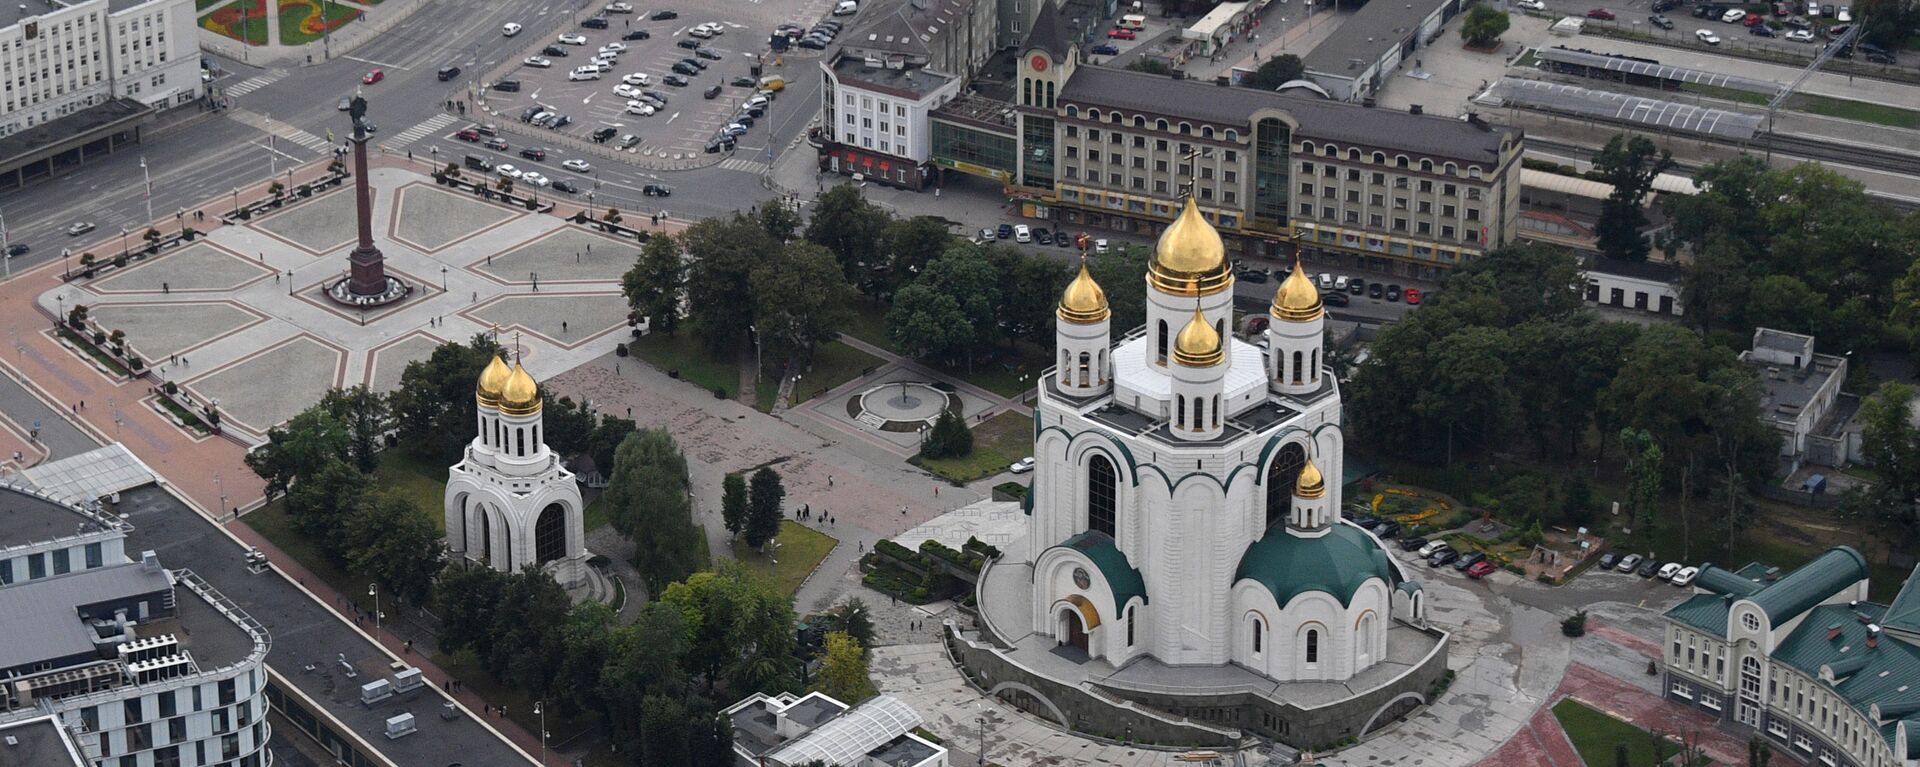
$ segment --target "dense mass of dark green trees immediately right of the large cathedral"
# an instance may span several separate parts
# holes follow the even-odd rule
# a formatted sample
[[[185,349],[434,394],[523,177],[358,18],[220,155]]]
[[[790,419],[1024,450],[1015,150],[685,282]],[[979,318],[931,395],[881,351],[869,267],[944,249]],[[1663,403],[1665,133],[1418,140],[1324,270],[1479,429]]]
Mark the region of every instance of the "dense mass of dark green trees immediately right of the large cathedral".
[[[1597,461],[1620,440],[1653,488],[1676,484],[1682,504],[1711,496],[1732,538],[1747,482],[1772,473],[1778,450],[1755,373],[1690,329],[1582,313],[1578,275],[1555,248],[1501,248],[1457,269],[1380,331],[1348,388],[1354,427],[1434,465],[1528,448]],[[1651,536],[1655,519],[1636,532]]]

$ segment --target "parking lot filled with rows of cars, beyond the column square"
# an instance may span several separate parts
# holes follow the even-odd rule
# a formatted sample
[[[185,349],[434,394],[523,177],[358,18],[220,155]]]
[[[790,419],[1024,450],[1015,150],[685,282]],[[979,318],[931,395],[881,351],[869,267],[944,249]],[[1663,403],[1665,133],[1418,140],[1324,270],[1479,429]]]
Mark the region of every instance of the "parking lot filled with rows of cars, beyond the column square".
[[[766,44],[768,35],[780,23],[799,21],[789,13],[810,8],[818,8],[818,2],[714,4],[703,10],[636,6],[632,13],[603,12],[607,29],[576,23],[561,35],[572,42],[561,42],[555,37],[530,37],[515,65],[490,73],[490,83],[511,79],[518,81],[520,88],[516,92],[490,90],[488,106],[501,123],[524,121],[532,111],[540,111],[534,110],[536,106],[545,106],[566,117],[563,125],[551,127],[566,136],[580,140],[599,136],[603,146],[634,154],[697,158],[707,154],[714,135],[755,96],[758,83],[753,67],[762,58],[772,56]],[[676,17],[655,19],[655,15],[666,15],[660,12],[670,12]],[[699,25],[710,25],[710,29],[718,29],[718,35],[695,37],[693,29]],[[641,33],[647,38],[637,38]],[[693,48],[693,42],[699,42],[699,48]],[[576,67],[591,63],[595,54],[609,44],[624,46],[611,71],[603,71],[599,79],[570,79]],[[564,56],[555,56],[555,52]],[[530,58],[547,60],[551,65],[532,65]],[[668,75],[676,75],[674,65],[682,60],[695,60],[707,69],[691,75],[678,73],[687,83],[684,87],[668,85]],[[793,69],[787,67],[787,71]],[[634,75],[645,75],[645,83]],[[614,88],[624,79],[639,94],[616,94]],[[705,98],[714,87],[718,87],[718,94]],[[655,111],[651,115],[634,113],[628,104],[643,100],[645,92],[659,98],[653,104]],[[766,121],[776,111],[780,110],[768,104],[766,111],[755,125],[747,127],[747,135],[739,136],[737,142],[764,146]],[[524,125],[513,129],[522,135],[538,135],[538,131],[528,133]],[[760,133],[762,140],[755,142],[755,133]]]

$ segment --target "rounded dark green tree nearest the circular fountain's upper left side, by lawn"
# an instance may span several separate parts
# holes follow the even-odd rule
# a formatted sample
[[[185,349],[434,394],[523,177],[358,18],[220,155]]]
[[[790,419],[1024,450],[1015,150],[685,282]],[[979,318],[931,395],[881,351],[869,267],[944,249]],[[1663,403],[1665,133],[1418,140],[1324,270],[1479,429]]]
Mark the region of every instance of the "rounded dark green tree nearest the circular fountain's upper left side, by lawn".
[[[833,254],[810,242],[789,242],[755,267],[753,294],[762,359],[776,381],[812,365],[814,348],[847,327],[852,298]]]

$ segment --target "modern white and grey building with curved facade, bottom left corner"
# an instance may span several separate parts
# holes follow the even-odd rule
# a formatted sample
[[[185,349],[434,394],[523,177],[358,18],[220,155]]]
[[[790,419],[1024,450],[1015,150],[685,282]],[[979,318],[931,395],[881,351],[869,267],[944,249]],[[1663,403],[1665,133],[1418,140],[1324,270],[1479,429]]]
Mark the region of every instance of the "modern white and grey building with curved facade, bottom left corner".
[[[0,486],[0,727],[54,717],[96,767],[261,767],[267,629],[131,525]]]

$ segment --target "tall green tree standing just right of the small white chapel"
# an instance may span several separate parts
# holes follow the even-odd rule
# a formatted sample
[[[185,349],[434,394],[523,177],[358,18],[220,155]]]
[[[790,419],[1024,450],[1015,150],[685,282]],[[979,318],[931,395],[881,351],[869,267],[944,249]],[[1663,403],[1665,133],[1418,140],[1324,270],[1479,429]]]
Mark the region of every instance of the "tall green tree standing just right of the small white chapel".
[[[620,442],[605,496],[609,517],[634,540],[634,569],[655,594],[703,565],[689,486],[687,458],[672,434],[641,429]]]

